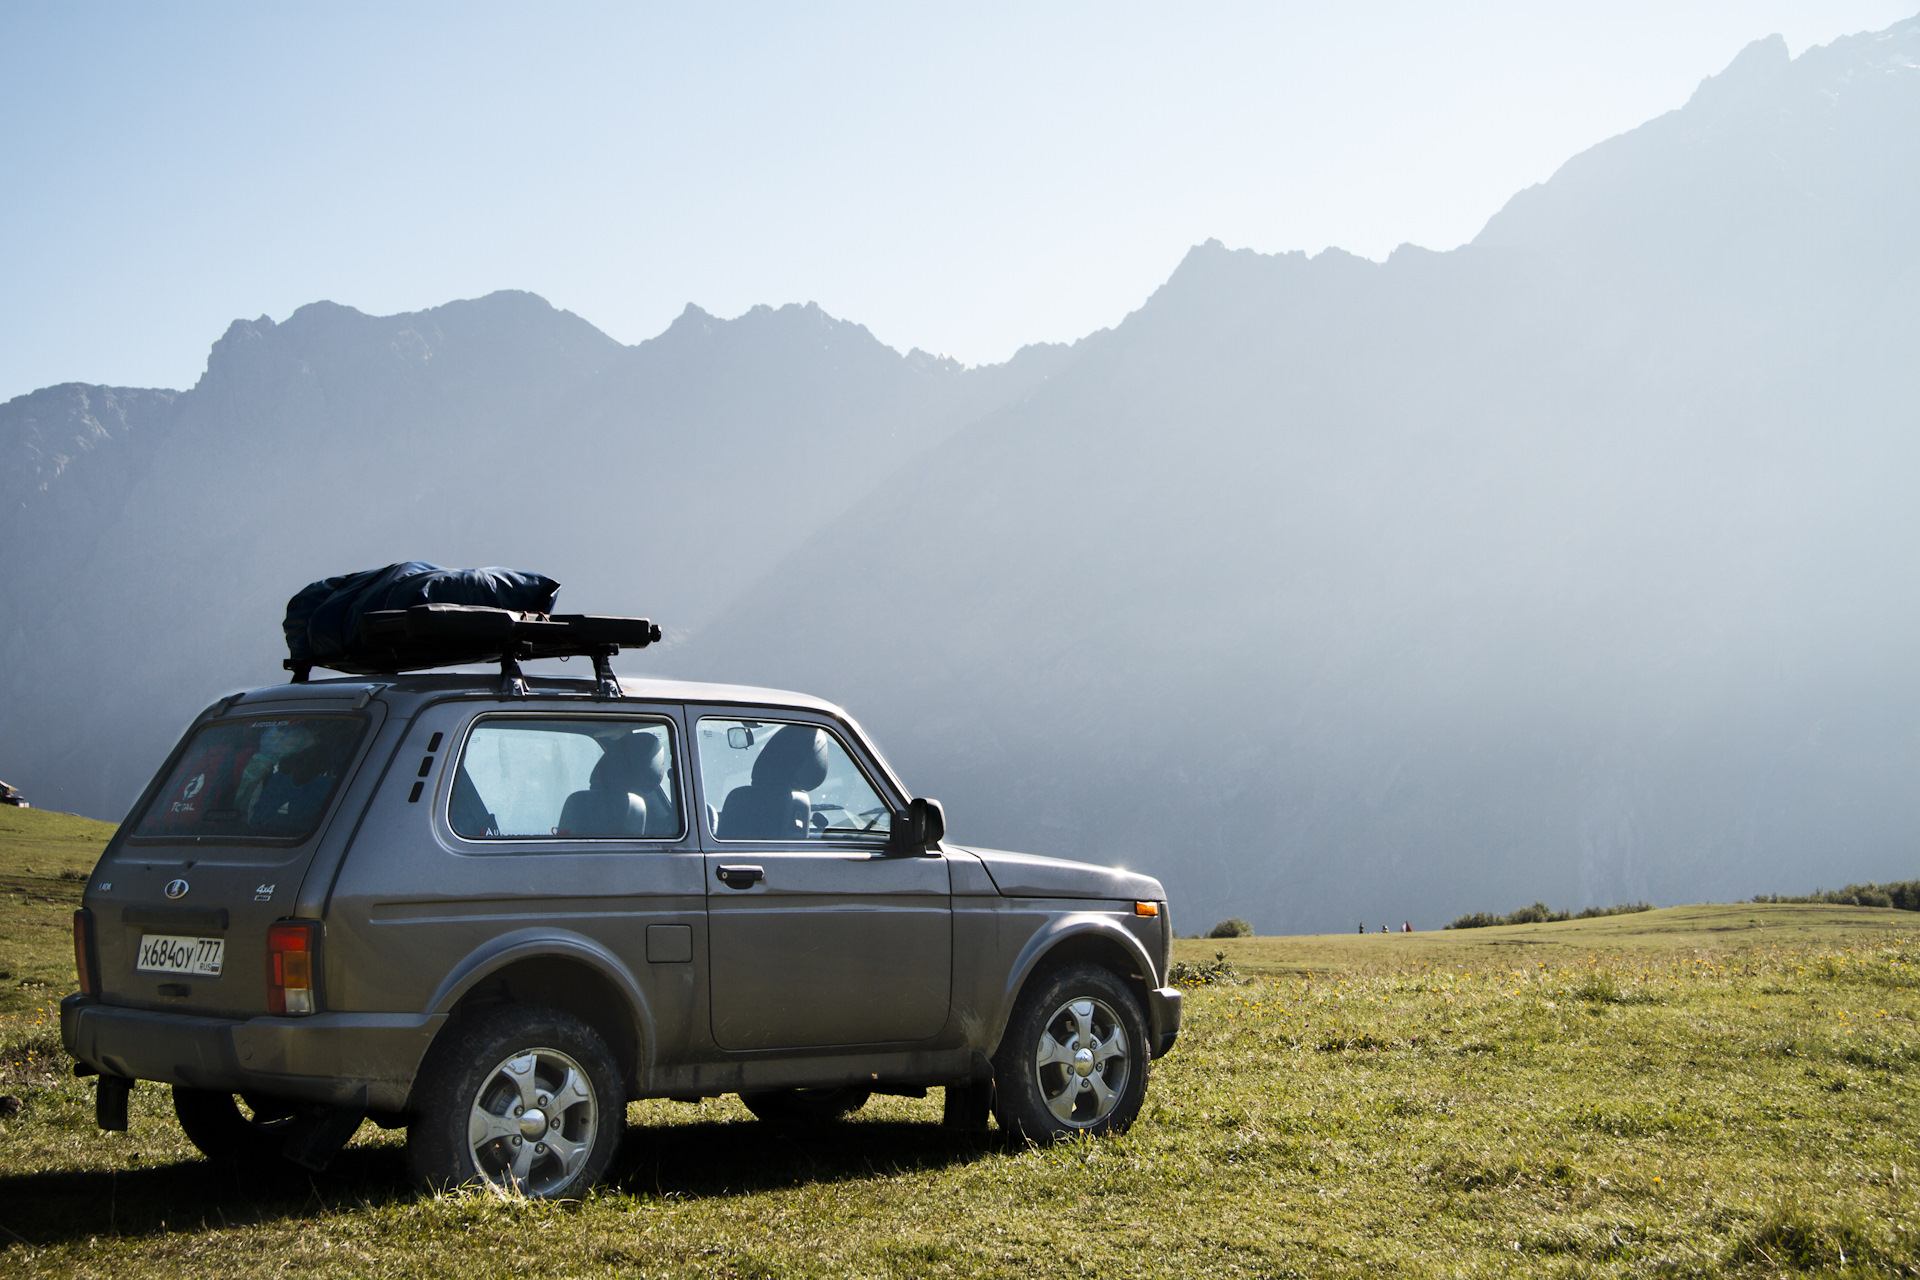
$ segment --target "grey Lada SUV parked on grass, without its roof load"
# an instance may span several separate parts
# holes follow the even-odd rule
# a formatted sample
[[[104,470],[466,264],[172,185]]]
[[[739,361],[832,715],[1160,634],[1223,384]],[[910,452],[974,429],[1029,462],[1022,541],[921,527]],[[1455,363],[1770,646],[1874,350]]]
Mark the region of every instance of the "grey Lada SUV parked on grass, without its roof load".
[[[1133,1121],[1181,1019],[1158,881],[947,842],[818,699],[505,666],[194,722],[75,913],[102,1126],[156,1080],[211,1157],[321,1167],[372,1119],[426,1182],[564,1196],[636,1098]]]

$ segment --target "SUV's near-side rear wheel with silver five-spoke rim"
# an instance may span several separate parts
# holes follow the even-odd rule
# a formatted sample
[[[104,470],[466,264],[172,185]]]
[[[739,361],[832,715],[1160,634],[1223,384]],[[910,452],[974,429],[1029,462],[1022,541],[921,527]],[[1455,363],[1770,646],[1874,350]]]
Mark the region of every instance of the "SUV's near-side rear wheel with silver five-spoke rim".
[[[559,1009],[509,1007],[451,1029],[413,1096],[407,1169],[432,1188],[578,1196],[607,1173],[626,1128],[612,1052]]]

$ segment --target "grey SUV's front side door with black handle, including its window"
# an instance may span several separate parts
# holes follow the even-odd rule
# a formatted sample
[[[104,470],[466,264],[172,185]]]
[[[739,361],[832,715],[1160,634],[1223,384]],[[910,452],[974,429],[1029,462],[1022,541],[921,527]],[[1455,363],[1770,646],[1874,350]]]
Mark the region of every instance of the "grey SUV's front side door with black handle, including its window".
[[[708,1007],[722,1050],[927,1040],[952,998],[939,852],[885,852],[891,804],[847,735],[795,712],[693,708]]]

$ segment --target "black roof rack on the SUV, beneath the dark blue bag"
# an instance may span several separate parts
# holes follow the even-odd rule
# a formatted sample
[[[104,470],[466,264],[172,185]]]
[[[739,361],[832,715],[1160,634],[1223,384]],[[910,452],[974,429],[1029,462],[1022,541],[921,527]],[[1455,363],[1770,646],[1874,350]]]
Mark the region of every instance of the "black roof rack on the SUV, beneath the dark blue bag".
[[[526,697],[520,662],[532,658],[593,658],[599,695],[620,697],[611,658],[622,649],[645,649],[660,628],[645,618],[599,614],[524,614],[486,604],[415,604],[361,614],[351,652],[324,662],[280,662],[296,685],[307,683],[315,666],[349,676],[390,676],[440,666],[499,662],[501,693]]]

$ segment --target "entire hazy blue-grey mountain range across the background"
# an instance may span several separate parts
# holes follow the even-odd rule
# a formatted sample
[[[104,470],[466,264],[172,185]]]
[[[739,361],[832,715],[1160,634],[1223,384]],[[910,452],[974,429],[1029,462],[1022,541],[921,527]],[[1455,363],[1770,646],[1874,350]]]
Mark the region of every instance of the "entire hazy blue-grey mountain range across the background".
[[[1755,42],[1453,251],[1208,242],[996,367],[814,305],[236,320],[188,391],[0,405],[0,764],[119,818],[288,595],[426,558],[835,699],[954,839],[1183,929],[1912,875],[1916,148],[1920,19]]]

